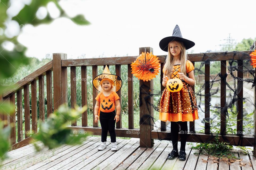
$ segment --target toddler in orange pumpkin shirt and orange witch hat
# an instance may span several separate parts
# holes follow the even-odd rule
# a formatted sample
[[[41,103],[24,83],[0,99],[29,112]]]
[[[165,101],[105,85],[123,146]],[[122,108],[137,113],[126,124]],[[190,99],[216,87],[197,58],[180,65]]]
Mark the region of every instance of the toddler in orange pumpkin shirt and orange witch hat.
[[[98,150],[102,151],[106,148],[107,131],[109,131],[111,139],[111,151],[117,151],[117,142],[115,134],[115,123],[120,120],[120,101],[117,91],[122,87],[122,80],[117,75],[110,73],[106,66],[103,74],[93,79],[93,86],[100,92],[96,99],[94,108],[95,123],[101,122],[101,145]],[[115,112],[115,108],[117,112]]]

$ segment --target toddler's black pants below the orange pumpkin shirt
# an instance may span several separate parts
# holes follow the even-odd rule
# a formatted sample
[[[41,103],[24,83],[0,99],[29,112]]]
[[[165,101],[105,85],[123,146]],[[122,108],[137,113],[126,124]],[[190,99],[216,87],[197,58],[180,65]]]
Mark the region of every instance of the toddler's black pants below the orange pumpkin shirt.
[[[100,112],[99,121],[101,122],[101,142],[107,141],[107,131],[109,131],[111,142],[116,142],[114,118],[115,111],[110,113]]]

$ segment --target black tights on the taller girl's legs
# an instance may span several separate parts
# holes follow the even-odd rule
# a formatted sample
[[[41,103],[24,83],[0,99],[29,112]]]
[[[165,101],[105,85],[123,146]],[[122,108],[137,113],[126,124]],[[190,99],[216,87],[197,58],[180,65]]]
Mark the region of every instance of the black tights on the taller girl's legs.
[[[173,143],[173,149],[178,151],[179,125],[181,127],[181,151],[185,151],[187,141],[187,122],[171,122],[171,141]]]

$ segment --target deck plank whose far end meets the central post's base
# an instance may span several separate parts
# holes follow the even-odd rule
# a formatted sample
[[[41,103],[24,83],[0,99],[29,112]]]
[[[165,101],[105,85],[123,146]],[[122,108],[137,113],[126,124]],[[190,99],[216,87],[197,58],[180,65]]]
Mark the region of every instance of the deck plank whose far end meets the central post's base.
[[[122,162],[115,170],[127,169],[141,154],[146,150],[146,148],[138,148],[132,155],[129,156],[124,162]]]

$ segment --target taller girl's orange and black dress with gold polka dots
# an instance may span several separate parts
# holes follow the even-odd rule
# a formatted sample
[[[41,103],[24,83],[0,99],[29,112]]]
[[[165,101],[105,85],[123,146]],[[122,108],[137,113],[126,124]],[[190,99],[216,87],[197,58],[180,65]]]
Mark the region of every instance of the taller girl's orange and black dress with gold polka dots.
[[[187,73],[194,70],[194,66],[189,60],[186,62],[186,70]],[[179,78],[179,72],[180,65],[174,65],[171,78]],[[183,88],[178,92],[170,92],[167,88],[163,90],[157,104],[161,121],[185,122],[198,119],[198,107],[194,91],[185,81],[182,83]]]

